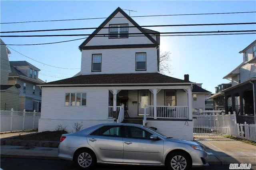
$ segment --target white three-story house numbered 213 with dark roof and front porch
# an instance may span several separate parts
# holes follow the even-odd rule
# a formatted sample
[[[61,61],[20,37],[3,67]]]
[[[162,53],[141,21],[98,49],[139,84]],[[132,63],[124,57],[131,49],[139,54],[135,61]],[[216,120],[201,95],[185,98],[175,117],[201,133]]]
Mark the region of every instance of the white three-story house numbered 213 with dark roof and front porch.
[[[58,124],[71,131],[75,122],[86,128],[117,121],[143,123],[166,135],[192,140],[194,83],[188,75],[177,79],[158,73],[159,47],[159,32],[140,27],[117,8],[79,46],[80,73],[39,85],[39,131],[54,130]]]

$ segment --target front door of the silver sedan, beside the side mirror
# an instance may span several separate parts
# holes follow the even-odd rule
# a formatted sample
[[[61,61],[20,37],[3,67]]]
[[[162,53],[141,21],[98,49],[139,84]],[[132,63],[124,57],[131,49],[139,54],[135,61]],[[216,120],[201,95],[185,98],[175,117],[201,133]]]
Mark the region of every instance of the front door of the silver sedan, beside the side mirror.
[[[124,126],[124,163],[161,164],[164,152],[162,139],[152,140],[142,128]]]

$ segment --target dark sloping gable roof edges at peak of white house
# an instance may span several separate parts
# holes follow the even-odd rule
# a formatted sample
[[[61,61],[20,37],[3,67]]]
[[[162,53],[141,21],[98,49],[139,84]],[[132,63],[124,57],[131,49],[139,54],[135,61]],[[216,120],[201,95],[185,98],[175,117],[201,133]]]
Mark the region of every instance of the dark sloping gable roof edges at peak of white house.
[[[86,40],[81,45],[79,45],[79,49],[81,50],[82,47],[84,45],[86,45],[86,43],[88,43],[94,37],[94,35],[97,34],[101,30],[101,28],[104,27],[118,12],[120,12],[134,26],[136,26],[138,28],[138,30],[140,30],[151,42],[153,42],[154,44],[158,44],[158,42],[156,42],[156,40],[154,40],[154,38],[152,38],[152,36],[150,36],[148,34],[145,34],[145,33],[149,32],[148,29],[144,29],[141,26],[139,26],[139,24],[137,24],[130,16],[128,16],[120,7],[118,7],[118,8],[116,8],[116,10],[112,14],[110,14],[110,16],[104,22],[102,22],[102,24],[100,24],[100,26],[96,30],[94,30],[94,32],[92,32],[92,34],[88,38],[86,38]],[[153,30],[150,30],[150,31],[153,31]],[[153,31],[153,32],[154,32],[154,34],[157,33],[156,31]]]

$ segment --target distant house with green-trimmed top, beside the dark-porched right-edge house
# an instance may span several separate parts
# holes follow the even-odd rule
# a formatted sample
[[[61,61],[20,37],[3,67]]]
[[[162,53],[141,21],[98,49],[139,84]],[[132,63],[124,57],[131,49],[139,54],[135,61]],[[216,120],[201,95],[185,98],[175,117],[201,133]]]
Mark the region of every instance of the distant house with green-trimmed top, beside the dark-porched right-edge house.
[[[231,83],[222,83],[215,87],[215,94],[208,98],[208,99],[213,99],[214,110],[223,110],[223,111],[225,110],[224,93],[220,91],[227,89],[231,86],[232,86]],[[231,99],[228,99],[228,108],[229,108],[228,111],[230,111],[231,113],[232,109],[230,109],[230,107],[231,107]]]

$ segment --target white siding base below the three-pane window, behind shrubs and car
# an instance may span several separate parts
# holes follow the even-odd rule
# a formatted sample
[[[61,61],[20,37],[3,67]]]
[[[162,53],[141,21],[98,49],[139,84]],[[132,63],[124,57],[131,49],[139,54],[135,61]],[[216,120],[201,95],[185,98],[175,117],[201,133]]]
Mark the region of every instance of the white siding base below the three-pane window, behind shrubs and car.
[[[114,119],[108,120],[84,120],[84,119],[39,119],[38,125],[38,132],[43,131],[53,131],[55,130],[57,125],[67,126],[68,132],[75,132],[74,128],[72,127],[74,123],[81,123],[82,122],[82,129],[94,126],[101,123],[114,123]]]

